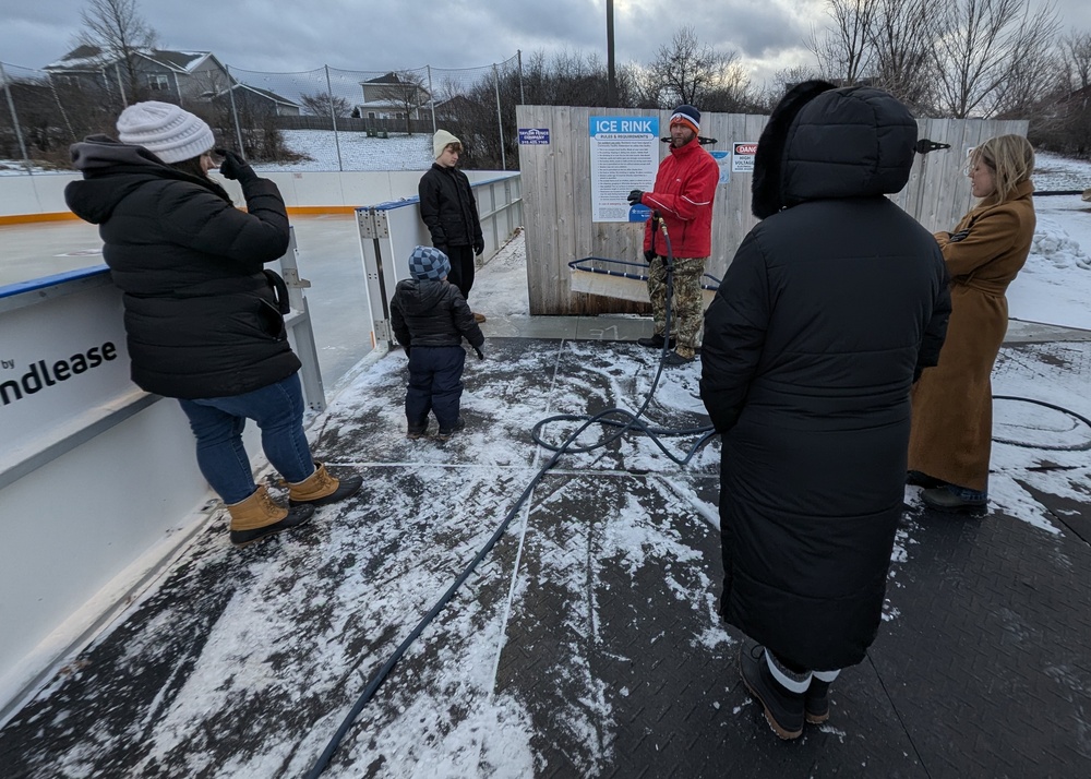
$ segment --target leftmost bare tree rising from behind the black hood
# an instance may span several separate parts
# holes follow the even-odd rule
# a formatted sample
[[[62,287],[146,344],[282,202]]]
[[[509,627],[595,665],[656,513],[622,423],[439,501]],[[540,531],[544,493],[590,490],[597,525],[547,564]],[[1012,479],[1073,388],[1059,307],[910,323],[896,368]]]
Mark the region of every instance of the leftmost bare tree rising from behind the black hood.
[[[824,33],[811,33],[811,51],[823,77],[844,86],[868,74],[874,57],[876,12],[880,0],[828,0],[826,13],[834,21]]]

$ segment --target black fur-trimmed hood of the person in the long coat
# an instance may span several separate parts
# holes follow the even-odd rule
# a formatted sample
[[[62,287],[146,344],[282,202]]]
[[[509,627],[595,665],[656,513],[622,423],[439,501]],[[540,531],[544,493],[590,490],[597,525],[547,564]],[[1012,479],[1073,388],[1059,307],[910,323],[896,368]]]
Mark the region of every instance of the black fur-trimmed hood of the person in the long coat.
[[[754,216],[764,219],[805,201],[899,192],[909,181],[915,145],[916,120],[889,93],[838,89],[824,81],[798,84],[758,141]]]

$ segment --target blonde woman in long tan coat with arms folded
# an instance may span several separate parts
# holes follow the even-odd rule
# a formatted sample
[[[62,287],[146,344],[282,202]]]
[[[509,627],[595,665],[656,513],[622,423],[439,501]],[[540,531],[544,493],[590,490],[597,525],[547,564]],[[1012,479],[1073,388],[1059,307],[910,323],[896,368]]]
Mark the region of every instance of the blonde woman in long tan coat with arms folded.
[[[907,482],[924,503],[951,512],[987,504],[993,435],[990,375],[1008,326],[1004,292],[1027,262],[1034,237],[1034,151],[1020,135],[985,141],[970,154],[978,205],[936,240],[951,277],[951,317],[939,364],[912,393]]]

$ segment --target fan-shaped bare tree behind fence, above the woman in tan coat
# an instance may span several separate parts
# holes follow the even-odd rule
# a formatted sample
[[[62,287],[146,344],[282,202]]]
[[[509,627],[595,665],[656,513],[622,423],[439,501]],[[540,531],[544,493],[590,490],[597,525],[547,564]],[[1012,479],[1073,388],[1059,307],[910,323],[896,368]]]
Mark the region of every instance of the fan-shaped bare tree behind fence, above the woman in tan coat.
[[[1054,5],[1031,14],[1030,0],[949,0],[942,14],[933,56],[939,108],[964,119],[993,116],[1011,79],[1036,80],[1041,49],[1057,29]]]

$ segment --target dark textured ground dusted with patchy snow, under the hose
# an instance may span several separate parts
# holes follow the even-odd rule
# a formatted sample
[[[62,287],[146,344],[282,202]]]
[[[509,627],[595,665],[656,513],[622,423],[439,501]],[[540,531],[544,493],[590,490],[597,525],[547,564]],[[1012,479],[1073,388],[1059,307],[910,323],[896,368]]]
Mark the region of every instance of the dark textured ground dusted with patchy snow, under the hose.
[[[626,434],[562,458],[517,507],[550,456],[535,422],[635,410],[651,389],[655,353],[571,339],[570,324],[563,339],[509,335],[558,321],[497,321],[503,336],[487,324],[488,359],[467,362],[467,429],[445,443],[405,438],[400,352],[355,372],[312,432],[335,472],[365,476],[360,494],[242,550],[214,508],[156,586],[0,729],[0,776],[307,776],[506,517],[323,776],[1091,775],[1086,333],[1012,328],[994,375],[1015,399],[996,404],[988,514],[933,513],[907,488],[878,638],[835,683],[829,721],[784,743],[740,682],[741,636],[716,616],[716,440],[679,465]],[[697,375],[666,373],[648,417],[706,421]]]

